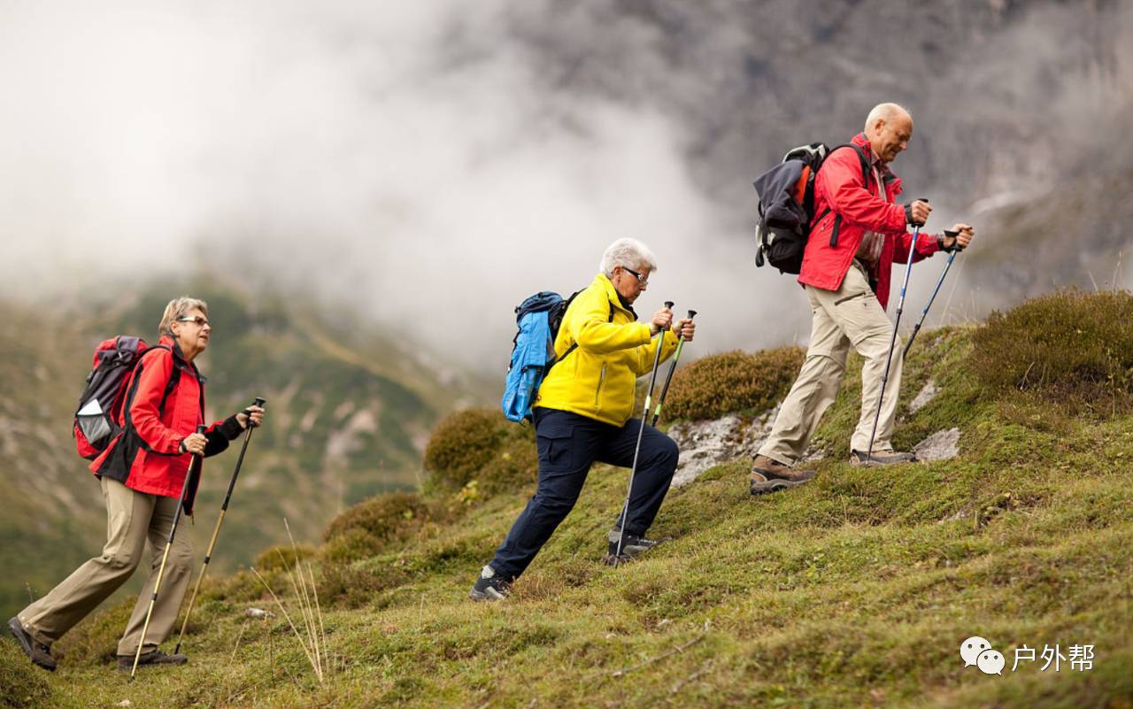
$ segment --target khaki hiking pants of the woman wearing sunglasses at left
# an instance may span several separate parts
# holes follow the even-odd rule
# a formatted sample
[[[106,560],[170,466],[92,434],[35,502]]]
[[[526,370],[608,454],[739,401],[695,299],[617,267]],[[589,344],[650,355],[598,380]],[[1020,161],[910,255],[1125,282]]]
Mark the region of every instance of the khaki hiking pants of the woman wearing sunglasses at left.
[[[20,610],[18,617],[28,634],[51,646],[129,580],[142,561],[148,540],[150,578],[118,642],[118,655],[134,655],[142,641],[142,626],[179,501],[138,493],[109,478],[101,478],[100,481],[107,501],[107,546],[102,548],[102,555],[79,566],[51,592]],[[189,587],[191,562],[193,547],[181,524],[169,549],[143,652],[156,649],[172,631],[181,599]]]

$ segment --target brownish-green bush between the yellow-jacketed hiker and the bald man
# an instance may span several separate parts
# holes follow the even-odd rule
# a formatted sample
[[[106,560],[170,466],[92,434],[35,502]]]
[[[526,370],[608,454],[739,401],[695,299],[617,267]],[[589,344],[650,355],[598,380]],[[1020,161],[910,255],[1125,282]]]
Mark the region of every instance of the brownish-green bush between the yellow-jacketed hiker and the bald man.
[[[665,411],[690,420],[766,411],[786,395],[804,356],[802,348],[784,347],[698,359],[673,376]]]

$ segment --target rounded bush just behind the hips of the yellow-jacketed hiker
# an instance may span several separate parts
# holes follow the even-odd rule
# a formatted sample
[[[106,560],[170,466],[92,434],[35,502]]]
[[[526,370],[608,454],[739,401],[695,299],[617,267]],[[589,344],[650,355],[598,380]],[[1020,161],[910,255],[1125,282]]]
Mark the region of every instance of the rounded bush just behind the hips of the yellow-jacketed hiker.
[[[467,409],[450,413],[425,447],[429,486],[460,489],[491,461],[503,443],[508,420],[499,410]]]

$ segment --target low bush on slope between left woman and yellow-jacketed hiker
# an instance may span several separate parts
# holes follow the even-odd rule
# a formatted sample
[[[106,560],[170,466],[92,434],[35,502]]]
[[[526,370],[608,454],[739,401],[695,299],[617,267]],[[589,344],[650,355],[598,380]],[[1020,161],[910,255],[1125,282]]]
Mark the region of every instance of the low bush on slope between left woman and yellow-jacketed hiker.
[[[417,493],[389,493],[350,507],[323,532],[324,557],[346,563],[374,556],[403,543],[440,515],[438,507]]]

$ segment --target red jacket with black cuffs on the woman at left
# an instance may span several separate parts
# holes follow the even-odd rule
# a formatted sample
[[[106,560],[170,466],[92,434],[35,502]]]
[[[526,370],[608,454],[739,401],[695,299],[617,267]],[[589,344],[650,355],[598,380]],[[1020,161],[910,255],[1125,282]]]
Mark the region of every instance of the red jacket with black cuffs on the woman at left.
[[[107,476],[139,493],[179,497],[193,456],[180,453],[181,441],[196,432],[205,418],[204,377],[195,365],[185,361],[181,350],[163,335],[159,347],[148,349],[130,375],[122,430],[107,450],[91,463],[95,476]],[[161,347],[164,345],[164,347]],[[177,381],[162,405],[171,377]],[[236,417],[215,421],[206,429],[205,455],[215,455],[240,435]],[[197,478],[199,470],[194,476]],[[189,484],[185,511],[191,513],[196,494]]]

